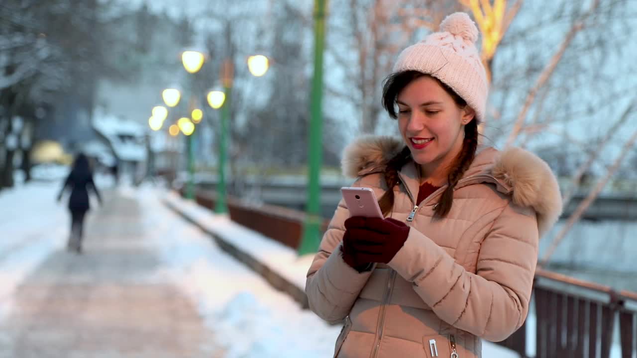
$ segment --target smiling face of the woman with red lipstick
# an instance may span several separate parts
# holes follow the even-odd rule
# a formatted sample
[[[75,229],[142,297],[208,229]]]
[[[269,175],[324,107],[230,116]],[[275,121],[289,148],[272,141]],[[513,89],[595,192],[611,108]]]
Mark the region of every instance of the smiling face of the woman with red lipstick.
[[[459,108],[430,76],[409,83],[396,103],[401,136],[424,175],[448,170],[462,150],[464,125],[473,120],[474,111],[469,106]]]

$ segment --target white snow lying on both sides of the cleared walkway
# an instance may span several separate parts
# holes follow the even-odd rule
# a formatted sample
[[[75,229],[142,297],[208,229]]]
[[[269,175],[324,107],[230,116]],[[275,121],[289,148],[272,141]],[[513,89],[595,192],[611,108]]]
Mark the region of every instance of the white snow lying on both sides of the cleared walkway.
[[[51,182],[0,192],[0,320],[4,317],[1,313],[11,308],[15,287],[48,254],[64,245],[68,217],[64,205],[55,202],[57,190],[59,183]],[[191,297],[217,337],[213,345],[223,348],[225,357],[331,357],[340,327],[329,326],[302,310],[289,296],[224,254],[208,234],[162,203],[166,194],[161,190],[117,190],[119,195],[137,198],[145,213],[145,234],[157,244],[157,255],[165,263],[154,279],[170,280]],[[224,231],[233,243],[303,287],[311,256],[299,259],[290,248],[242,229],[227,218],[215,217],[172,194],[167,199]],[[529,323],[534,323],[533,317]],[[532,340],[534,329],[529,333]],[[487,342],[483,356],[516,357]]]

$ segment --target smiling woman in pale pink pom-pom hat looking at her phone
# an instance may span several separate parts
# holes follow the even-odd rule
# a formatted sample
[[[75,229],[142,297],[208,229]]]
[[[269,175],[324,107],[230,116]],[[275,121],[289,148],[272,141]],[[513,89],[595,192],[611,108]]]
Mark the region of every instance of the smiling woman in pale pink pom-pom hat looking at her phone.
[[[406,48],[383,105],[401,139],[346,148],[343,171],[385,219],[341,201],[308,271],[310,308],[345,327],[338,357],[481,357],[526,319],[538,240],[559,217],[554,175],[535,155],[478,150],[487,80],[465,13]]]

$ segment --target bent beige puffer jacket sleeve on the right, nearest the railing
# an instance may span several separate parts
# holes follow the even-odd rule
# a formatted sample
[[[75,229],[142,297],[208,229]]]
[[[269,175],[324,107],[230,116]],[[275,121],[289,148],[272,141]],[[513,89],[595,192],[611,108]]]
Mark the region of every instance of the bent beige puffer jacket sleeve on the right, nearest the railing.
[[[535,212],[508,204],[482,242],[475,274],[413,228],[389,266],[413,283],[440,319],[485,340],[502,341],[526,319],[538,236]]]

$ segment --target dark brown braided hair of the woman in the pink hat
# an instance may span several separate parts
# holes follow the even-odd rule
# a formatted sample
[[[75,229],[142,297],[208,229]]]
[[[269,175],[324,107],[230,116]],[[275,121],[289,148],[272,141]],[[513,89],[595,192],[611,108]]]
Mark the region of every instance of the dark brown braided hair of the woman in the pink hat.
[[[398,94],[409,83],[422,76],[429,76],[419,71],[401,71],[393,73],[385,78],[383,83],[383,107],[389,113],[389,116],[396,119],[396,99]],[[434,78],[434,77],[432,77]],[[447,93],[454,99],[455,104],[459,108],[467,106],[466,101],[462,97],[458,96],[448,85],[434,78],[441,87],[447,91]],[[456,157],[452,171],[447,176],[448,186],[443,192],[440,202],[434,209],[436,217],[446,217],[454,200],[454,188],[458,181],[464,175],[464,172],[469,169],[471,162],[475,158],[476,150],[478,148],[478,118],[473,118],[471,122],[464,126],[464,143],[462,143],[462,150]],[[387,192],[378,200],[380,210],[383,211],[383,215],[388,215],[394,206],[394,186],[398,182],[398,171],[403,168],[404,164],[412,159],[409,147],[404,147],[401,152],[394,155],[392,159],[387,162],[387,168],[385,169],[385,183],[387,183]]]

